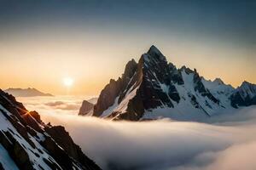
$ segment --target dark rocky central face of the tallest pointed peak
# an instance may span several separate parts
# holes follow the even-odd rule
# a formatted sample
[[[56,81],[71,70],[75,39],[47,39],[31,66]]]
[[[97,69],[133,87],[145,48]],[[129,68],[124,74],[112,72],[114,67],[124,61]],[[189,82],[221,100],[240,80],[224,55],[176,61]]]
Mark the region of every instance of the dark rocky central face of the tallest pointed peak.
[[[137,93],[129,100],[127,110],[115,116],[115,119],[137,121],[145,110],[156,108],[163,103],[173,107],[172,99],[178,101],[179,96],[171,82],[171,69],[166,57],[157,48],[154,46],[149,48],[148,53],[143,54],[139,59],[135,77],[126,88],[126,92],[130,88],[131,91],[137,88]],[[161,84],[168,87],[166,91],[161,89]]]

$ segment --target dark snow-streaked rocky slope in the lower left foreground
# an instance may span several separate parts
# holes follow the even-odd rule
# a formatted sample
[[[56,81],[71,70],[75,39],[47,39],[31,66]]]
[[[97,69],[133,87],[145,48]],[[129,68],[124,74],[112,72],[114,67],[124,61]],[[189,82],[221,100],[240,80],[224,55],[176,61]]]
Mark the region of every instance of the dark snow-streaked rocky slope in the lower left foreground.
[[[26,111],[2,90],[0,122],[0,144],[20,169],[100,169],[64,127],[45,125],[38,112]]]

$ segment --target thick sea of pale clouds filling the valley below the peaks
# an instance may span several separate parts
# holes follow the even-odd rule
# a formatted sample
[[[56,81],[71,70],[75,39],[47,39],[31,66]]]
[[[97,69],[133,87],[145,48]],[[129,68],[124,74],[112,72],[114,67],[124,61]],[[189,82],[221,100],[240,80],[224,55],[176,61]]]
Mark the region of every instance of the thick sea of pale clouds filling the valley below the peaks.
[[[111,122],[77,116],[82,99],[22,102],[38,111],[44,122],[66,127],[74,142],[102,169],[256,169],[256,106],[205,122]]]

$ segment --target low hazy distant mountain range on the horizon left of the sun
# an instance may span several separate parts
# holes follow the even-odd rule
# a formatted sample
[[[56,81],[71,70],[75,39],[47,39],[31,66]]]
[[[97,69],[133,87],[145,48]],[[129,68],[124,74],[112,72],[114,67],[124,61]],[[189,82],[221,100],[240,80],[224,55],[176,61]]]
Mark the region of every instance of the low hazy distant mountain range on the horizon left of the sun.
[[[12,94],[15,97],[53,96],[52,94],[44,94],[36,88],[8,88],[4,92]]]

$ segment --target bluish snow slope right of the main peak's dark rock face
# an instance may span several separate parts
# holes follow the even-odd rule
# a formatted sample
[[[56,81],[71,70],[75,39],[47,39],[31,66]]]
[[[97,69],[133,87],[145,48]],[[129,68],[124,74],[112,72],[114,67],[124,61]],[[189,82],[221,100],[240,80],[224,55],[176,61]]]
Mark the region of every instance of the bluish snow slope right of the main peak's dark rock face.
[[[175,84],[177,93],[180,96],[179,102],[173,102],[173,107],[160,106],[153,110],[145,112],[143,119],[154,119],[171,117],[176,120],[201,121],[214,113],[222,112],[226,108],[232,109],[229,96],[234,90],[225,84],[218,84],[211,81],[202,81],[207,89],[209,89],[214,97],[220,100],[219,104],[212,102],[205,96],[195,91],[194,73],[186,73],[181,71],[183,77],[183,85]],[[164,85],[161,85],[164,86]],[[166,88],[162,88],[165,92]],[[195,102],[191,99],[195,97]]]

